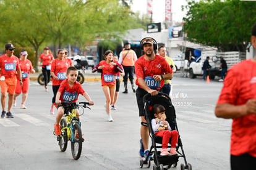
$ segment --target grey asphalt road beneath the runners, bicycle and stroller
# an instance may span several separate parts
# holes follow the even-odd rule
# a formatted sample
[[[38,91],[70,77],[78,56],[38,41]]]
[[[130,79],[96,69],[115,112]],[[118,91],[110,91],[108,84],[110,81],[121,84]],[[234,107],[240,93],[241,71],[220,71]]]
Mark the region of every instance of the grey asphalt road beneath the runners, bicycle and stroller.
[[[173,84],[177,126],[188,163],[192,169],[229,169],[231,120],[214,115],[223,84],[177,77]],[[95,105],[80,117],[85,137],[80,159],[73,160],[70,142],[66,152],[61,152],[53,136],[56,115],[49,115],[51,85],[45,92],[43,86],[31,81],[27,109],[19,108],[19,97],[17,107],[12,108],[14,118],[0,119],[0,169],[140,169],[140,118],[135,94],[131,89],[122,94],[121,84],[117,110],[112,111],[114,121],[109,123],[100,82],[82,86]],[[172,169],[179,169],[180,163],[184,163],[183,158]]]

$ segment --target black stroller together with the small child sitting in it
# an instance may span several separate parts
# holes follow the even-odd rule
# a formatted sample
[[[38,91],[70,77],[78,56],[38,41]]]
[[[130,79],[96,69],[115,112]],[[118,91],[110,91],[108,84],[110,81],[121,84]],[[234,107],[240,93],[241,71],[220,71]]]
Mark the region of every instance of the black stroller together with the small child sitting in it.
[[[143,103],[144,103],[144,109],[143,111],[145,112],[145,119],[148,122],[148,130],[150,133],[150,137],[151,137],[151,147],[149,150],[148,156],[146,158],[142,158],[140,160],[140,168],[143,168],[144,164],[147,164],[147,167],[150,168],[150,159],[149,156],[153,154],[153,161],[154,161],[154,165],[153,165],[153,170],[155,169],[169,169],[171,168],[171,166],[176,167],[177,166],[177,162],[179,161],[179,158],[184,158],[184,163],[181,163],[181,170],[184,169],[192,169],[192,166],[190,163],[187,163],[186,160],[186,156],[183,150],[183,146],[182,146],[182,142],[181,142],[181,137],[179,136],[179,130],[177,128],[177,123],[176,123],[176,113],[175,113],[175,108],[173,106],[173,103],[171,102],[171,99],[169,97],[169,95],[166,95],[164,93],[158,92],[157,95],[150,95],[150,94],[146,94],[143,97]],[[159,105],[161,105],[162,107],[160,107]],[[153,108],[154,107],[154,108]],[[157,108],[157,109],[156,109]],[[155,110],[155,111],[154,111]],[[162,112],[162,113],[161,113]],[[160,119],[160,124],[161,124],[161,117],[162,121],[164,121],[165,119],[165,123],[163,124],[168,124],[168,130],[166,127],[155,127],[156,130],[153,129],[154,126],[154,121],[155,124],[156,122],[158,123],[158,121],[156,121],[156,117],[157,114],[155,115],[155,113],[161,113],[162,116],[160,116],[158,118],[158,121]],[[164,113],[164,114],[163,114]],[[165,116],[163,116],[165,115]],[[164,125],[163,125],[164,126]],[[171,137],[168,137],[168,139],[171,138],[171,141],[168,139],[163,139],[161,137],[161,129],[163,129],[164,131],[169,131],[169,127],[170,129],[172,129],[173,131],[170,131],[172,133]],[[155,133],[155,131],[157,131],[160,133]],[[164,140],[167,140],[168,142],[164,142]],[[164,144],[165,143],[165,144]],[[168,143],[171,144],[171,153],[174,154],[170,154],[167,150],[164,151],[164,149],[166,148],[170,148],[170,146],[166,147],[166,144],[168,145]],[[160,145],[156,145],[156,144],[162,144]],[[162,148],[162,152],[158,151],[157,148]],[[175,150],[174,150],[175,149]],[[181,149],[181,151],[179,151],[179,149]],[[177,154],[178,153],[178,154]],[[164,166],[168,166],[167,168]]]

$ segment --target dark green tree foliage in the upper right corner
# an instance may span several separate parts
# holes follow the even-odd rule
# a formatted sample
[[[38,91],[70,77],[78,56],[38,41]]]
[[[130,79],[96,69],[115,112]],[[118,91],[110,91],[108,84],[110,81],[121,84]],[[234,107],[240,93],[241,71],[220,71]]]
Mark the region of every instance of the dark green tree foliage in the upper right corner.
[[[215,46],[220,51],[245,51],[256,22],[256,2],[189,1],[186,8],[184,30],[190,41]]]

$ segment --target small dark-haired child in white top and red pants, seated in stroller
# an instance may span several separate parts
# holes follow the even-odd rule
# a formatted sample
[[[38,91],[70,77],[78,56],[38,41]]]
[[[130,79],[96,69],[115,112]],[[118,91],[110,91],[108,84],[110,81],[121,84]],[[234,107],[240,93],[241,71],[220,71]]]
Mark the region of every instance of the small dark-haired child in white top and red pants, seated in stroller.
[[[166,121],[165,108],[163,105],[155,104],[153,105],[152,111],[154,113],[155,119],[151,120],[151,125],[155,136],[160,136],[162,140],[162,150],[160,155],[177,155],[176,145],[179,137],[179,133],[176,130],[171,129],[168,121]],[[171,149],[168,152],[167,147],[169,140],[171,139]]]

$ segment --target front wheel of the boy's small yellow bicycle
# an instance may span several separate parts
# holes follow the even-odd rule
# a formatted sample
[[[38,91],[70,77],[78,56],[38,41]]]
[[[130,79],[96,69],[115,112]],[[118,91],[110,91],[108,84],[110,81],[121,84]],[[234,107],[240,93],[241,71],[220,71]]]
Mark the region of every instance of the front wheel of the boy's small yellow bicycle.
[[[82,131],[79,124],[75,123],[73,126],[73,136],[71,140],[71,152],[74,160],[78,160],[80,158],[82,152]]]

